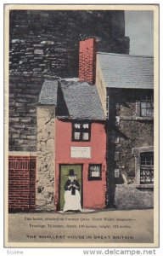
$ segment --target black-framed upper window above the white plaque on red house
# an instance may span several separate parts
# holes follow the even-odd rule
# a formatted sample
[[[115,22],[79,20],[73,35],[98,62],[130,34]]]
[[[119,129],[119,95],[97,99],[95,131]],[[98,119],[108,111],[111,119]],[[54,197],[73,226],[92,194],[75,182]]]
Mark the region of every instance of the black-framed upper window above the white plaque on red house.
[[[89,142],[91,138],[91,124],[88,122],[72,123],[72,141]]]

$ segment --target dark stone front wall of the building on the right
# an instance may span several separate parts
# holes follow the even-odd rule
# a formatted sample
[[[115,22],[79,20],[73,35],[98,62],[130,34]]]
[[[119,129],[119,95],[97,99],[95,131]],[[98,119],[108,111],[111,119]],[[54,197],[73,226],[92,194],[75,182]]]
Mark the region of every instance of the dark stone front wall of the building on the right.
[[[138,116],[137,102],[152,90],[110,89],[108,120],[108,202],[120,208],[152,207],[153,189],[137,188],[133,148],[154,145],[154,119]],[[119,175],[115,176],[115,170]]]

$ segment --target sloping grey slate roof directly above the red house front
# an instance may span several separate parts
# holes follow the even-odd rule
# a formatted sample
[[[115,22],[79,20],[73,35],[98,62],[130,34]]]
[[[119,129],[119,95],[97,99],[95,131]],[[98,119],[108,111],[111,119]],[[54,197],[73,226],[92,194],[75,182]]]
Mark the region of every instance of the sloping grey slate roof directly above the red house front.
[[[90,85],[87,82],[62,81],[61,89],[70,119],[105,119],[96,85]]]

